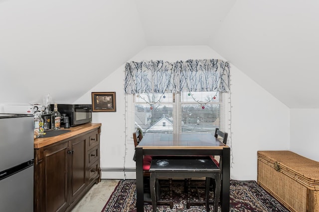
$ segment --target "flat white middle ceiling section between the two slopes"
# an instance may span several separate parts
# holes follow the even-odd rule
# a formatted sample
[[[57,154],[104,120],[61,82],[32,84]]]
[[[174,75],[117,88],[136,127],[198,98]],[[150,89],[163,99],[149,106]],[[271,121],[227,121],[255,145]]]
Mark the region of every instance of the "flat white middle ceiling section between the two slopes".
[[[235,0],[135,0],[149,46],[208,45]]]

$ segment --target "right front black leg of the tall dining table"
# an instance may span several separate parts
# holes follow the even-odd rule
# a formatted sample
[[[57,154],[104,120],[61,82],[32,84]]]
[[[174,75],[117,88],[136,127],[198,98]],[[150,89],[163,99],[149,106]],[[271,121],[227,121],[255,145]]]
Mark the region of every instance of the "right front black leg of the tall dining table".
[[[229,212],[230,148],[223,148],[221,211]]]

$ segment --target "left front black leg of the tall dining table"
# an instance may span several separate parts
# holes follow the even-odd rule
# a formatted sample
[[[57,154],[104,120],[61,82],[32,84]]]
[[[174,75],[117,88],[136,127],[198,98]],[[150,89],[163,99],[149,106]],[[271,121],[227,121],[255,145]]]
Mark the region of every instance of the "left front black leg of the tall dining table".
[[[136,147],[136,211],[144,211],[143,148]]]

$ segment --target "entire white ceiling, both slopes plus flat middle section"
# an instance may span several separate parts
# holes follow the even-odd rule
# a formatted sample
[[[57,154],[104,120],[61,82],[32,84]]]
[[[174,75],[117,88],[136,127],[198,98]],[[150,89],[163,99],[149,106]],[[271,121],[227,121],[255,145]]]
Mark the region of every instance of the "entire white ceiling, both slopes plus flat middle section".
[[[0,0],[0,103],[72,103],[146,46],[208,45],[319,108],[318,0]]]

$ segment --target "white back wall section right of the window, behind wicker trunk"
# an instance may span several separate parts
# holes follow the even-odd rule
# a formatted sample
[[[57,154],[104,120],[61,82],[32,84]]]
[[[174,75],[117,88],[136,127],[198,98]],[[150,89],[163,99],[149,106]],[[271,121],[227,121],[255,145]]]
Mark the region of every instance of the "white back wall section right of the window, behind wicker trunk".
[[[257,180],[258,150],[288,150],[290,109],[231,67],[232,151],[231,177]]]

